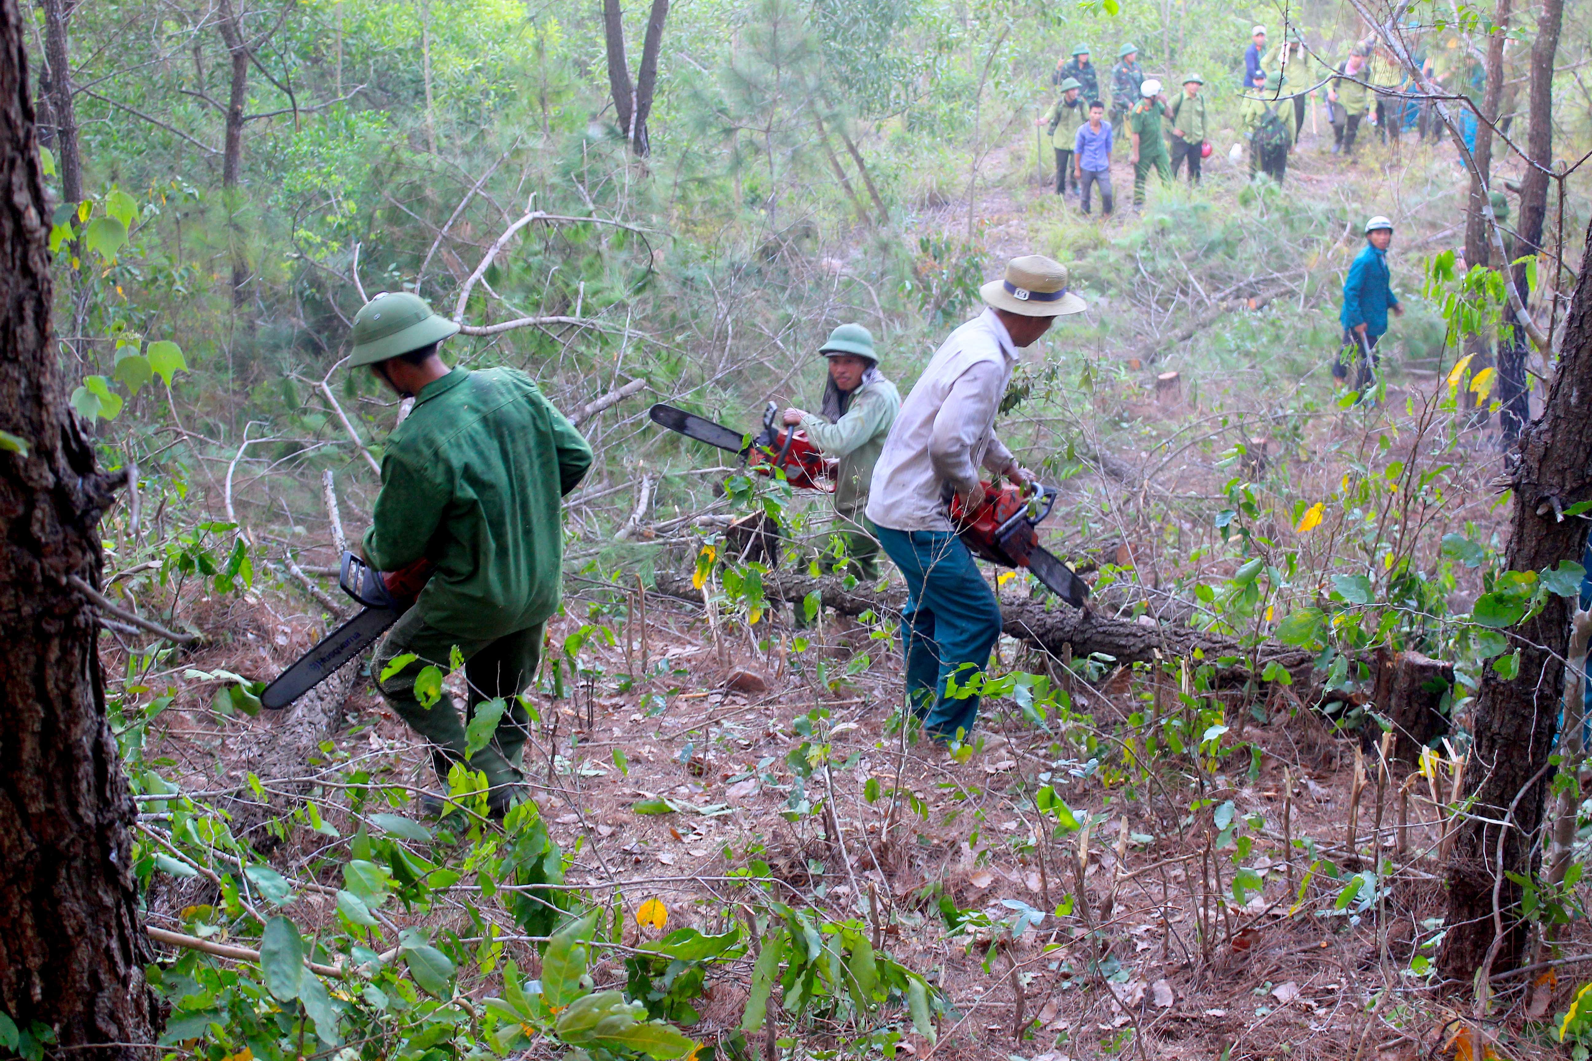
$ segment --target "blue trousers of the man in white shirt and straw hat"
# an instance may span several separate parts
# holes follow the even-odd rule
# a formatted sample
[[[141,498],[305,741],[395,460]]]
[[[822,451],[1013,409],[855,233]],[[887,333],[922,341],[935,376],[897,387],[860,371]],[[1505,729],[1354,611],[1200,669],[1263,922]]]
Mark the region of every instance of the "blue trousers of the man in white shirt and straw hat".
[[[947,698],[946,679],[966,686],[1000,636],[1000,604],[973,554],[949,531],[877,528],[879,544],[906,576],[901,651],[912,713],[935,740],[973,732],[979,698]],[[968,667],[971,665],[971,668]]]

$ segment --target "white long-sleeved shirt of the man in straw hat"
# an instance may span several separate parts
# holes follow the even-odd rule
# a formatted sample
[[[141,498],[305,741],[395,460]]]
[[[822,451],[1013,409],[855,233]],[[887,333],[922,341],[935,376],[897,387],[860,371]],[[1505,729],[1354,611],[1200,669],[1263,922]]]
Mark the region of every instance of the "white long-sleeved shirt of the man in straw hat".
[[[1017,347],[995,310],[950,332],[901,404],[874,464],[868,519],[904,531],[950,531],[942,490],[966,492],[979,464],[1011,466],[1011,450],[995,437],[995,412],[1017,366]]]

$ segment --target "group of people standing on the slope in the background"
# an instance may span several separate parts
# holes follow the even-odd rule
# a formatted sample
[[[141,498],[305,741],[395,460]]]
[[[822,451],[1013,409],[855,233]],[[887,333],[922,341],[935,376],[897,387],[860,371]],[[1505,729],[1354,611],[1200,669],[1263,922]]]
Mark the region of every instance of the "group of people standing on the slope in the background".
[[[1264,175],[1283,183],[1288,156],[1317,97],[1325,103],[1333,130],[1333,154],[1352,157],[1368,126],[1383,143],[1398,142],[1411,130],[1420,138],[1442,135],[1441,121],[1414,91],[1415,80],[1375,37],[1356,41],[1344,62],[1333,67],[1307,49],[1297,32],[1269,45],[1266,27],[1254,25],[1242,59],[1239,132],[1248,143],[1251,178]],[[1422,43],[1414,59],[1420,65],[1420,83],[1428,89],[1439,86],[1479,99],[1482,62],[1458,38],[1434,48]],[[1046,127],[1055,153],[1057,196],[1075,192],[1083,212],[1092,213],[1092,191],[1098,188],[1102,213],[1110,215],[1110,164],[1122,138],[1129,142],[1134,164],[1135,207],[1143,205],[1153,172],[1167,183],[1186,167],[1188,181],[1199,183],[1202,161],[1212,153],[1200,94],[1205,80],[1199,73],[1184,75],[1169,100],[1162,83],[1145,76],[1138,46],[1126,43],[1110,70],[1106,94],[1089,45],[1079,43],[1068,59],[1057,62],[1051,84],[1059,99],[1038,124]],[[1460,121],[1465,122],[1461,134],[1474,143],[1474,115],[1461,111]],[[1242,154],[1243,146],[1234,145],[1229,159],[1237,164]]]

